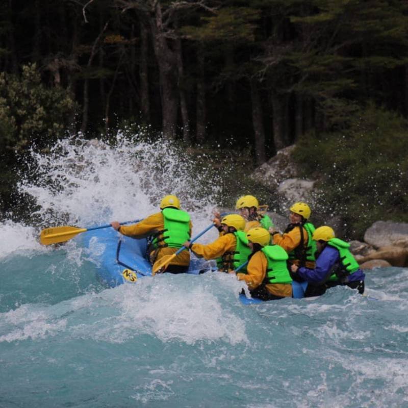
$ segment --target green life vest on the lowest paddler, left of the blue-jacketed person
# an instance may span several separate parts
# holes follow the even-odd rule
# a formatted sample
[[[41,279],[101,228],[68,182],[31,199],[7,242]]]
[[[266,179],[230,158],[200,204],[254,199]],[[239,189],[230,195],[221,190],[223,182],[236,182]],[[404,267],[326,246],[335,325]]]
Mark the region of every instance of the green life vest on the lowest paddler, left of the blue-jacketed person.
[[[268,261],[268,267],[264,279],[264,284],[291,284],[292,278],[290,277],[287,259],[288,254],[285,249],[279,245],[267,245],[264,246],[261,251],[265,254]]]

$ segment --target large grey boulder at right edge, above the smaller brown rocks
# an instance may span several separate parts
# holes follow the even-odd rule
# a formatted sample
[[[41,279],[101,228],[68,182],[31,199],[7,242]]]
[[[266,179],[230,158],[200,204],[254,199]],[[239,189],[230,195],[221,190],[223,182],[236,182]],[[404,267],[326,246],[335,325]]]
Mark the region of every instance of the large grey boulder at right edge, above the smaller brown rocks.
[[[376,248],[396,243],[408,247],[408,223],[376,221],[365,232],[364,241]]]

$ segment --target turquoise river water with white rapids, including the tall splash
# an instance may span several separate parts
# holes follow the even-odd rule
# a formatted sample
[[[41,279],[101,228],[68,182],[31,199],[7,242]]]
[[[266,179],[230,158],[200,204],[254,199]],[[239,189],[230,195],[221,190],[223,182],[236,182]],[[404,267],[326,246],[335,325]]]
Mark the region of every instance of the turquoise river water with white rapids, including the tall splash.
[[[408,407],[406,268],[368,271],[370,297],[334,288],[243,305],[233,276],[108,288],[80,241],[39,244],[41,227],[139,218],[168,192],[203,229],[211,197],[202,201],[171,152],[161,188],[160,174],[146,176],[146,149],[65,141],[49,157],[33,153],[42,174],[22,175],[20,189],[35,197],[40,226],[0,224],[0,407]]]

